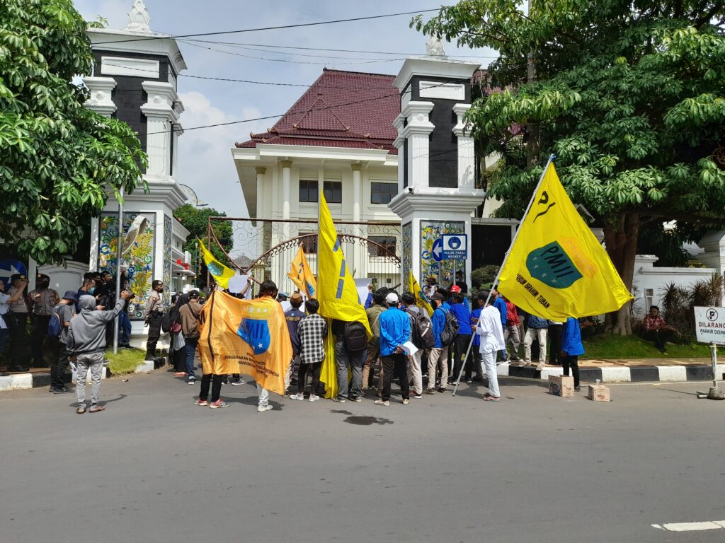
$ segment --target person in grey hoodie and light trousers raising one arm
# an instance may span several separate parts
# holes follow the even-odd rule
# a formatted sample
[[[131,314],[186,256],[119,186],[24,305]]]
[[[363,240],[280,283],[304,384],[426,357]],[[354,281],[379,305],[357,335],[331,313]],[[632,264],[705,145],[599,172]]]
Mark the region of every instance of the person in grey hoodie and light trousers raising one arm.
[[[104,411],[98,404],[101,392],[101,372],[103,371],[104,350],[106,350],[106,324],[113,321],[124,308],[130,292],[121,292],[116,306],[108,311],[96,311],[96,298],[81,296],[78,301],[80,313],[70,319],[67,332],[67,349],[75,356],[75,391],[78,393],[79,415],[86,413],[86,376],[91,371],[91,407],[90,413]]]

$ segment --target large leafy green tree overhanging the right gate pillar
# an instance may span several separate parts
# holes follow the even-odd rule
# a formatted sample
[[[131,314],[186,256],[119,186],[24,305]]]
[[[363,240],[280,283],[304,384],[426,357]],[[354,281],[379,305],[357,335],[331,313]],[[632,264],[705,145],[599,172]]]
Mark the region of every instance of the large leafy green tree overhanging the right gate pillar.
[[[460,45],[500,52],[498,88],[468,113],[487,151],[502,154],[486,180],[520,217],[550,153],[566,190],[604,224],[627,287],[647,222],[723,224],[725,10],[713,0],[464,0],[411,25]],[[537,81],[522,67],[535,51]],[[539,151],[526,164],[527,123]],[[629,304],[610,316],[631,334]]]

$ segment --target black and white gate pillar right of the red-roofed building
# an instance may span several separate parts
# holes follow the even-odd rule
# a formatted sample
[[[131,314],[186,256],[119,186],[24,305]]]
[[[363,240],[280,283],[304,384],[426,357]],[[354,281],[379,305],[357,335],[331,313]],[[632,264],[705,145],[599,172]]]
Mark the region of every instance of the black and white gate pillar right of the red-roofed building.
[[[393,83],[401,109],[394,121],[398,194],[388,205],[402,223],[402,290],[411,269],[421,285],[432,275],[448,286],[455,269],[471,284],[471,214],[485,196],[475,188],[476,153],[463,123],[479,64],[448,59],[439,40],[427,49],[407,58]],[[436,262],[434,243],[444,234],[468,235],[469,258]]]

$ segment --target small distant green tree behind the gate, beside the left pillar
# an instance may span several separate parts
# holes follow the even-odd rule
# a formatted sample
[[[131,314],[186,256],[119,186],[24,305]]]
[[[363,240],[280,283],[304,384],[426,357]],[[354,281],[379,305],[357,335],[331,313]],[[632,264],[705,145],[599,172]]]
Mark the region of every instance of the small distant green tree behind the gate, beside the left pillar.
[[[199,269],[202,271],[200,277],[197,278],[197,283],[200,286],[207,285],[207,266],[204,265],[204,261],[199,261],[199,244],[196,243],[196,239],[199,238],[207,243],[207,228],[209,225],[210,216],[226,216],[222,211],[217,211],[213,208],[196,209],[190,203],[185,203],[180,208],[174,211],[174,216],[181,222],[183,226],[191,232],[186,243],[183,245],[183,250],[191,253],[192,262],[200,262]],[[212,222],[212,228],[214,234],[221,243],[222,249],[219,248],[212,238],[210,247],[207,247],[212,254],[225,266],[231,266],[229,259],[225,253],[229,253],[234,246],[234,234],[231,227],[231,221],[214,221]]]

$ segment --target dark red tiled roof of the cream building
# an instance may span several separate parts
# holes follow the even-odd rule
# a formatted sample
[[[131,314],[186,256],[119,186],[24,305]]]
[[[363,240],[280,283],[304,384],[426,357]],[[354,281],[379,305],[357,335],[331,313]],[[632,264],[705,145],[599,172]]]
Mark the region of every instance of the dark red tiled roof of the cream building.
[[[394,75],[342,72],[325,68],[318,80],[267,132],[250,134],[257,143],[386,149],[397,153],[393,127],[400,113]]]

